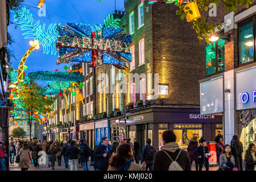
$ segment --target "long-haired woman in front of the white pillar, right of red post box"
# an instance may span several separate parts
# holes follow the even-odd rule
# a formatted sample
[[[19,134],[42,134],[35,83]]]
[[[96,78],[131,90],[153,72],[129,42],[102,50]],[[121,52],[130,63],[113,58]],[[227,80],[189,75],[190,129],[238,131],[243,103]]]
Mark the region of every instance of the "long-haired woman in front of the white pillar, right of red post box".
[[[233,171],[235,159],[229,144],[224,146],[224,154],[220,155],[220,171]]]

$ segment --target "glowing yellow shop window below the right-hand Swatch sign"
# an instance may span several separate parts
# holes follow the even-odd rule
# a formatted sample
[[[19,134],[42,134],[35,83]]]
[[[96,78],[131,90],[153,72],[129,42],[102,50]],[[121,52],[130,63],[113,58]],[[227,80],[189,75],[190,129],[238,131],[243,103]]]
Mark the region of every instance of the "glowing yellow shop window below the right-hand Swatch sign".
[[[180,148],[183,150],[187,150],[189,141],[196,136],[197,140],[199,140],[203,136],[203,130],[174,130],[176,135],[176,142],[179,144]]]

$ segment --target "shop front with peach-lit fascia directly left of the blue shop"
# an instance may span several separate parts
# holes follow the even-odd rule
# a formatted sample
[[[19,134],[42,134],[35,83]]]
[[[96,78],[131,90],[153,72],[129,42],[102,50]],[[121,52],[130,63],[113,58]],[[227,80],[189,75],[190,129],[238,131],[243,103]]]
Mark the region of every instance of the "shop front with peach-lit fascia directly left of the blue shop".
[[[94,122],[82,123],[79,125],[80,139],[86,139],[89,147],[94,149]]]

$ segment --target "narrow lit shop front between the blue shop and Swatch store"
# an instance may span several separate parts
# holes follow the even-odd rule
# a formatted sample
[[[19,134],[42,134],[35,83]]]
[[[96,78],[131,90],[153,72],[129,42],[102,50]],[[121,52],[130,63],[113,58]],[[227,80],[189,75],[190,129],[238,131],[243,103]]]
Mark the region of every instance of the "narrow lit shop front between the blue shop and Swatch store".
[[[112,118],[110,120],[110,131],[112,143],[115,141],[122,143],[123,139],[126,138],[125,118]]]

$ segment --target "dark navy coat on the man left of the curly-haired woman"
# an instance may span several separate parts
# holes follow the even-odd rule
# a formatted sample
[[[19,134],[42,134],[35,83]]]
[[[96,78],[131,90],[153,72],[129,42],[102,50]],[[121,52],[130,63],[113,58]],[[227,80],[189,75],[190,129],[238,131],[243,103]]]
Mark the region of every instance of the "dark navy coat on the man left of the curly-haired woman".
[[[113,148],[109,147],[109,151],[107,151],[107,146],[104,144],[99,144],[93,152],[93,158],[94,158],[94,166],[101,170],[107,170],[109,167],[109,159],[112,155]],[[107,154],[106,158],[104,158],[103,154]]]

